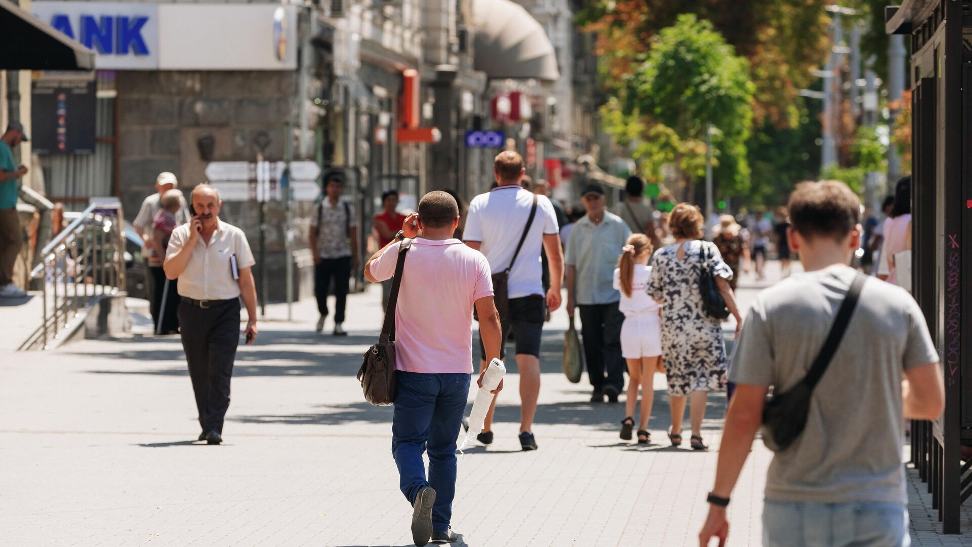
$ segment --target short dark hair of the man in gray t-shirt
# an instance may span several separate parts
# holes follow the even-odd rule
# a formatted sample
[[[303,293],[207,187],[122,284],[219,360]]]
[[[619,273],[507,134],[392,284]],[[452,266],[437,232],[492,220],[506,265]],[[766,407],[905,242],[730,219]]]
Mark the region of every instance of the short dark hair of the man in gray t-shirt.
[[[790,195],[790,224],[800,236],[847,237],[860,222],[860,200],[837,180],[803,182]]]

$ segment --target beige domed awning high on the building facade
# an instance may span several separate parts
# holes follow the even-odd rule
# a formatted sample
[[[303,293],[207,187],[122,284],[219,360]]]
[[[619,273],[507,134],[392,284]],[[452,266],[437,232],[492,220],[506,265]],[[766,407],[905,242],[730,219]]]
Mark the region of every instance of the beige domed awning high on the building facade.
[[[474,68],[490,78],[560,79],[546,31],[511,0],[472,0]]]

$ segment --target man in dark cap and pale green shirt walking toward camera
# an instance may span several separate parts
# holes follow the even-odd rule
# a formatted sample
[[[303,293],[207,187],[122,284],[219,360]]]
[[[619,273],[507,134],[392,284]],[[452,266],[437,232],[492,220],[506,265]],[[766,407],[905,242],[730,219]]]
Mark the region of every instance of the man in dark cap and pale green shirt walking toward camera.
[[[591,402],[617,402],[624,387],[621,357],[621,300],[613,284],[614,268],[631,229],[621,217],[605,209],[605,190],[600,184],[584,187],[581,200],[587,214],[574,223],[567,242],[567,312],[580,308],[581,334],[587,375],[594,392]]]

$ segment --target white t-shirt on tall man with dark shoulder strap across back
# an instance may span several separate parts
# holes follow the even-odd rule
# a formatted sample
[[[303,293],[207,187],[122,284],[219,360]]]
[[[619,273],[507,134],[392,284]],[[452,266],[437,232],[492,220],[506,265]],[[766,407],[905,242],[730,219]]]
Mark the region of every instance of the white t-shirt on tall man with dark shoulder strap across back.
[[[527,219],[530,218],[533,203],[534,194],[519,185],[494,188],[476,196],[469,203],[463,239],[482,243],[479,250],[486,255],[494,274],[509,268],[516,244],[520,242]],[[557,214],[550,199],[537,196],[537,215],[506,282],[509,298],[543,294],[543,268],[540,264],[543,236],[559,233]]]

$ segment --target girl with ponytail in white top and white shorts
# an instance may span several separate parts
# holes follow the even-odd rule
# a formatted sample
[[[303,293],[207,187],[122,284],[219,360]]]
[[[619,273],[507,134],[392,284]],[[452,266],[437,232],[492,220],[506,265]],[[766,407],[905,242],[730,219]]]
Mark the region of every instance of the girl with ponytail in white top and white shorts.
[[[638,386],[642,385],[642,416],[639,419],[638,444],[651,441],[648,418],[654,402],[655,371],[661,366],[661,309],[645,292],[651,268],[651,240],[643,234],[628,237],[622,249],[618,268],[614,270],[614,288],[621,291],[619,308],[624,313],[621,326],[621,354],[628,362],[628,396],[625,399],[627,418],[621,421],[621,438],[631,440],[635,426],[635,405],[638,403]]]

